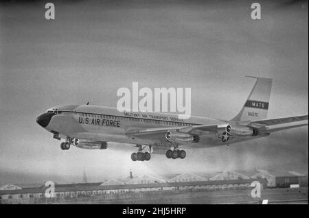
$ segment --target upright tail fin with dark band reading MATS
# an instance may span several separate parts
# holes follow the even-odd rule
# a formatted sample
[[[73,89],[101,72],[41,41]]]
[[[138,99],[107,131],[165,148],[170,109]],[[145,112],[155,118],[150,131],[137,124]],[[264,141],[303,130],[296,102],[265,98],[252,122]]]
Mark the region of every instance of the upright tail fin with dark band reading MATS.
[[[251,76],[247,76],[251,77]],[[253,86],[242,110],[231,121],[255,121],[267,118],[272,79],[253,77],[257,81]]]

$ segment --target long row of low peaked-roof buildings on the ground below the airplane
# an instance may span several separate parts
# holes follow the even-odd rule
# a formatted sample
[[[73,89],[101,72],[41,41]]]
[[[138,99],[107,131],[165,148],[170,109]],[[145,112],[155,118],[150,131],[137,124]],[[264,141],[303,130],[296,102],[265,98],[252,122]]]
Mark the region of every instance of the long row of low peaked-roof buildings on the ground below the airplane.
[[[198,174],[198,175],[196,175]],[[225,171],[214,173],[183,173],[178,175],[141,175],[130,176],[126,182],[107,180],[106,182],[55,184],[54,198],[45,197],[47,187],[21,188],[7,184],[0,187],[1,204],[46,204],[79,201],[104,201],[108,199],[135,199],[139,197],[164,197],[171,193],[190,193],[198,191],[224,191],[252,189],[251,183],[258,181],[262,189],[268,186],[282,186],[306,181],[305,175],[290,171],[282,174],[257,171],[253,176]],[[203,176],[208,175],[208,176]],[[278,176],[280,175],[280,176]],[[289,175],[289,177],[287,176]],[[287,179],[288,178],[288,179]],[[308,186],[307,183],[303,183]]]

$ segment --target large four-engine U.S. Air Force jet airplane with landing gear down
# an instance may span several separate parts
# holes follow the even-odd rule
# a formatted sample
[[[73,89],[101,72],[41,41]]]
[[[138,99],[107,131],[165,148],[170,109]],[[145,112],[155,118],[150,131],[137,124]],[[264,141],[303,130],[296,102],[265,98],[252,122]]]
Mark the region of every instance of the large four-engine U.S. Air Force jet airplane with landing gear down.
[[[61,105],[49,108],[36,122],[52,132],[63,150],[107,149],[108,143],[137,147],[133,161],[148,161],[151,154],[185,158],[185,149],[230,145],[269,136],[271,132],[308,125],[308,115],[266,119],[272,79],[256,82],[240,112],[231,120],[194,117],[179,119],[162,112],[119,112],[94,105]],[[304,121],[306,123],[304,123]],[[160,152],[161,151],[161,152]]]

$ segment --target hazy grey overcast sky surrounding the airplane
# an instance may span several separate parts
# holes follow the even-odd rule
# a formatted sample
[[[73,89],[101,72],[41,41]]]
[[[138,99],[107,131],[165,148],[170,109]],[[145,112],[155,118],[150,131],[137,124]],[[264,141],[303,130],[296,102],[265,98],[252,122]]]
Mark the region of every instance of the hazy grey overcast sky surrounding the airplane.
[[[35,122],[59,104],[115,107],[117,89],[132,82],[190,87],[192,114],[231,119],[255,82],[244,75],[273,78],[269,118],[308,114],[307,1],[259,1],[260,21],[249,1],[54,1],[54,21],[44,3],[18,2],[0,4],[0,184],[80,182],[83,168],[90,181],[129,169],[308,171],[308,127],[132,162],[130,148],[62,151]]]

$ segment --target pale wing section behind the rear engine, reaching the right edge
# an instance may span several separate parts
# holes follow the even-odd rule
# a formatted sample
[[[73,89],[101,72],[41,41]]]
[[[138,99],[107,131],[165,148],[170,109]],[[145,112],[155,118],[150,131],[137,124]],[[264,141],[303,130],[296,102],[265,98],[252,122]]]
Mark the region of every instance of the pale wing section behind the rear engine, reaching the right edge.
[[[252,128],[258,128],[262,133],[270,133],[308,125],[308,123],[300,123],[301,121],[306,120],[308,120],[308,115],[250,121],[249,123],[247,123],[247,126]]]

